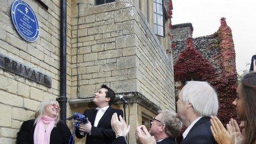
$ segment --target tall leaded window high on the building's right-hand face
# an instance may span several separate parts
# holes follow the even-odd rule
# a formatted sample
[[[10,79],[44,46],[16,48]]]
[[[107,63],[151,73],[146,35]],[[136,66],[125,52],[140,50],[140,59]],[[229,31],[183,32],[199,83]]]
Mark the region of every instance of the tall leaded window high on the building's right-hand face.
[[[163,1],[153,0],[154,33],[164,36]]]

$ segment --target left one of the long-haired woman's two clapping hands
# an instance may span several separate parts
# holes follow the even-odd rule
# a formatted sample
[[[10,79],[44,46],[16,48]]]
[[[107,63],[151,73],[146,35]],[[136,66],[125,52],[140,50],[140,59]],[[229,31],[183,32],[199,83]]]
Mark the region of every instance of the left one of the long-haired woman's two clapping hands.
[[[221,121],[217,116],[211,116],[211,132],[217,143],[220,144],[233,144],[234,134],[232,131],[232,126],[227,124],[227,130],[222,125]]]

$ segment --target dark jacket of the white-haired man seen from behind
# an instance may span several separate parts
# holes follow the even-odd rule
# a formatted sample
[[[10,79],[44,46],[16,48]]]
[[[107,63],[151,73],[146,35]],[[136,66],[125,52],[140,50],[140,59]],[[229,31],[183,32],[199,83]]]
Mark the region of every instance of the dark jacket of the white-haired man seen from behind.
[[[210,126],[210,118],[202,117],[198,122],[195,123],[188,135],[186,135],[186,137],[182,140],[182,144],[216,143],[214,136],[211,133]]]

